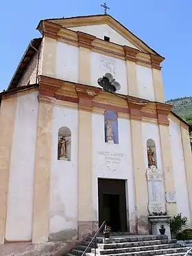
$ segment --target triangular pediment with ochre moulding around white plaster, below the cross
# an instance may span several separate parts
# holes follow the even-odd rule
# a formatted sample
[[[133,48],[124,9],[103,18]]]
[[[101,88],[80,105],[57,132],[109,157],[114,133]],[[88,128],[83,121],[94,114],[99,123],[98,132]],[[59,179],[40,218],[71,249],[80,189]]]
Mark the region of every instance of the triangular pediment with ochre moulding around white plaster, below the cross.
[[[77,16],[72,18],[48,19],[51,23],[56,23],[69,30],[80,31],[91,34],[97,38],[104,39],[104,35],[110,37],[110,42],[118,45],[127,45],[139,49],[147,54],[159,54],[146,45],[140,38],[132,34],[119,21],[110,15]]]

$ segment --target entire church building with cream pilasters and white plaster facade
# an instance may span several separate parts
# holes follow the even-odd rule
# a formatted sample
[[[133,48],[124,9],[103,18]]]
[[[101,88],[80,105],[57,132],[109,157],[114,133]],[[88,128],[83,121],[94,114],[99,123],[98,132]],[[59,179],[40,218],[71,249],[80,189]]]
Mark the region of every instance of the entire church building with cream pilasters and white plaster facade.
[[[76,242],[104,221],[155,233],[161,212],[191,224],[189,125],[165,103],[165,58],[108,14],[37,30],[0,94],[1,244]]]

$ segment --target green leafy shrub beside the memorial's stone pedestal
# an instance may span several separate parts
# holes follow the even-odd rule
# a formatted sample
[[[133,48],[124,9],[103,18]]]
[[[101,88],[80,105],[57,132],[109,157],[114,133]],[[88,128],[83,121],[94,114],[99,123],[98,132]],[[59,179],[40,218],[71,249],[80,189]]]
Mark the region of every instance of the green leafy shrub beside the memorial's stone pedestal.
[[[182,225],[185,225],[188,219],[187,217],[182,217],[181,213],[179,213],[177,216],[173,216],[167,221],[169,223],[171,232],[178,234],[182,229]]]

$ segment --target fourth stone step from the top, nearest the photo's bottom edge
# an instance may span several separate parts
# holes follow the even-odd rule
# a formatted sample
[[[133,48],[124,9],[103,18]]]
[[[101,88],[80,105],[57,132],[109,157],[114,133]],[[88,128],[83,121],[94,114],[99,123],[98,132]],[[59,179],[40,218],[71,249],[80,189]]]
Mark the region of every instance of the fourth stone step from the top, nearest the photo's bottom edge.
[[[184,254],[187,253],[189,250],[188,247],[181,247],[181,248],[164,248],[164,249],[157,249],[157,250],[147,250],[147,251],[134,251],[130,253],[118,253],[114,254],[111,253],[110,256],[153,256],[153,255],[173,255],[174,253]],[[80,255],[79,255],[80,256]],[[86,253],[86,256],[94,256],[94,253]],[[108,255],[109,256],[109,255]]]

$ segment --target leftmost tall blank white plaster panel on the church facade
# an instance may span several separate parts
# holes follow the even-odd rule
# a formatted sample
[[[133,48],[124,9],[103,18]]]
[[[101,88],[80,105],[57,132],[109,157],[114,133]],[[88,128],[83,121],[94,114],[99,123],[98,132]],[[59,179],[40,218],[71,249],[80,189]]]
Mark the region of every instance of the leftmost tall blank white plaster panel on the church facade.
[[[5,239],[32,239],[38,92],[17,98]]]

